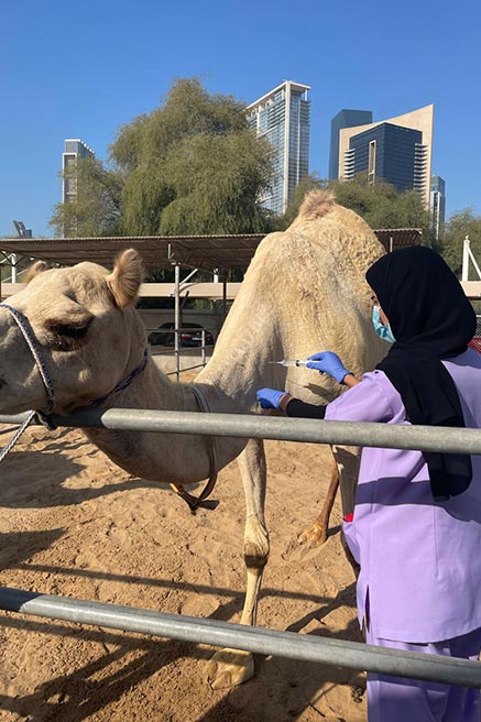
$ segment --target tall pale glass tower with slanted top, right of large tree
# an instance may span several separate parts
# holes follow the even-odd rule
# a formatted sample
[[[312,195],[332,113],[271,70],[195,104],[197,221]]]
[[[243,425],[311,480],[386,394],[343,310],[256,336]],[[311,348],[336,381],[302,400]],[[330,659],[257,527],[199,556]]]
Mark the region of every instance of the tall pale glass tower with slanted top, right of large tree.
[[[285,80],[247,108],[249,125],[274,149],[274,177],[261,203],[278,215],[309,173],[308,90],[308,85]]]

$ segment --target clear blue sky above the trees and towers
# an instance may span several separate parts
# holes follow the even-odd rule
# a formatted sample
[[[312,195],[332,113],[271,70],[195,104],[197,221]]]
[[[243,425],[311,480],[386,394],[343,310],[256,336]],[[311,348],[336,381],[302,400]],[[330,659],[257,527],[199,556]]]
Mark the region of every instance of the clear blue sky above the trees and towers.
[[[174,78],[252,102],[311,86],[310,171],[327,176],[330,120],[435,103],[433,173],[447,214],[481,214],[481,3],[383,0],[4,0],[0,10],[0,234],[51,236],[65,138],[108,157],[118,129]]]

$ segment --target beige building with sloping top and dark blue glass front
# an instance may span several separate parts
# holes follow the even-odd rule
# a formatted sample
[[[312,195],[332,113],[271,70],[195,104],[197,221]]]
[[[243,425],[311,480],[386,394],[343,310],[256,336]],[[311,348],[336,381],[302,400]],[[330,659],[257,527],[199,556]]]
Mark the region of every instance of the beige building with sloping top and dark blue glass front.
[[[339,130],[340,179],[367,173],[397,190],[417,190],[429,207],[434,106]]]

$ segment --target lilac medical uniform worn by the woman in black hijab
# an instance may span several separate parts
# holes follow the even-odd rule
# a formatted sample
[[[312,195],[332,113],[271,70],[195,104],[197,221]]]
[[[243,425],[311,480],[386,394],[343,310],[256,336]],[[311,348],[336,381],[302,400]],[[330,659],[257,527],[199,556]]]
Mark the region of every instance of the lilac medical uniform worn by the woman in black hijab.
[[[444,364],[458,390],[466,426],[481,428],[481,354],[468,349]],[[364,374],[362,383],[330,403],[326,419],[408,424],[402,398],[382,371]],[[358,614],[361,624],[367,621],[371,644],[478,657],[481,456],[472,456],[471,461],[469,489],[436,503],[420,451],[363,449],[354,515],[351,523],[345,522],[345,534],[361,565]],[[446,650],[458,637],[456,652]],[[404,707],[404,713],[400,709],[396,716],[400,705],[393,700],[400,701],[401,689],[405,696],[406,680],[380,675],[371,676],[371,680],[368,699],[372,720],[480,720],[477,690],[413,680],[414,697],[420,694],[429,713],[420,714],[417,699],[408,716]],[[387,691],[390,685],[396,690],[394,697]],[[442,702],[439,690],[447,694]],[[452,701],[453,694],[463,701]],[[381,705],[382,698],[387,707]],[[440,716],[434,714],[431,702]],[[452,705],[457,711],[450,715]],[[371,713],[371,708],[376,711]]]

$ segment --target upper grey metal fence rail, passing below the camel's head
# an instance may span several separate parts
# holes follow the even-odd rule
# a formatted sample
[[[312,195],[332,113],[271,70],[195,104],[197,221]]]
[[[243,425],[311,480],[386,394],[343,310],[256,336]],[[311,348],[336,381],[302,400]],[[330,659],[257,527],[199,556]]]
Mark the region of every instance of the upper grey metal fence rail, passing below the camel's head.
[[[26,416],[26,414],[0,415],[0,424],[21,423]],[[155,412],[133,408],[85,409],[67,416],[54,414],[52,420],[62,427],[199,434],[481,455],[481,429],[397,426],[363,422],[321,422],[256,414]]]

